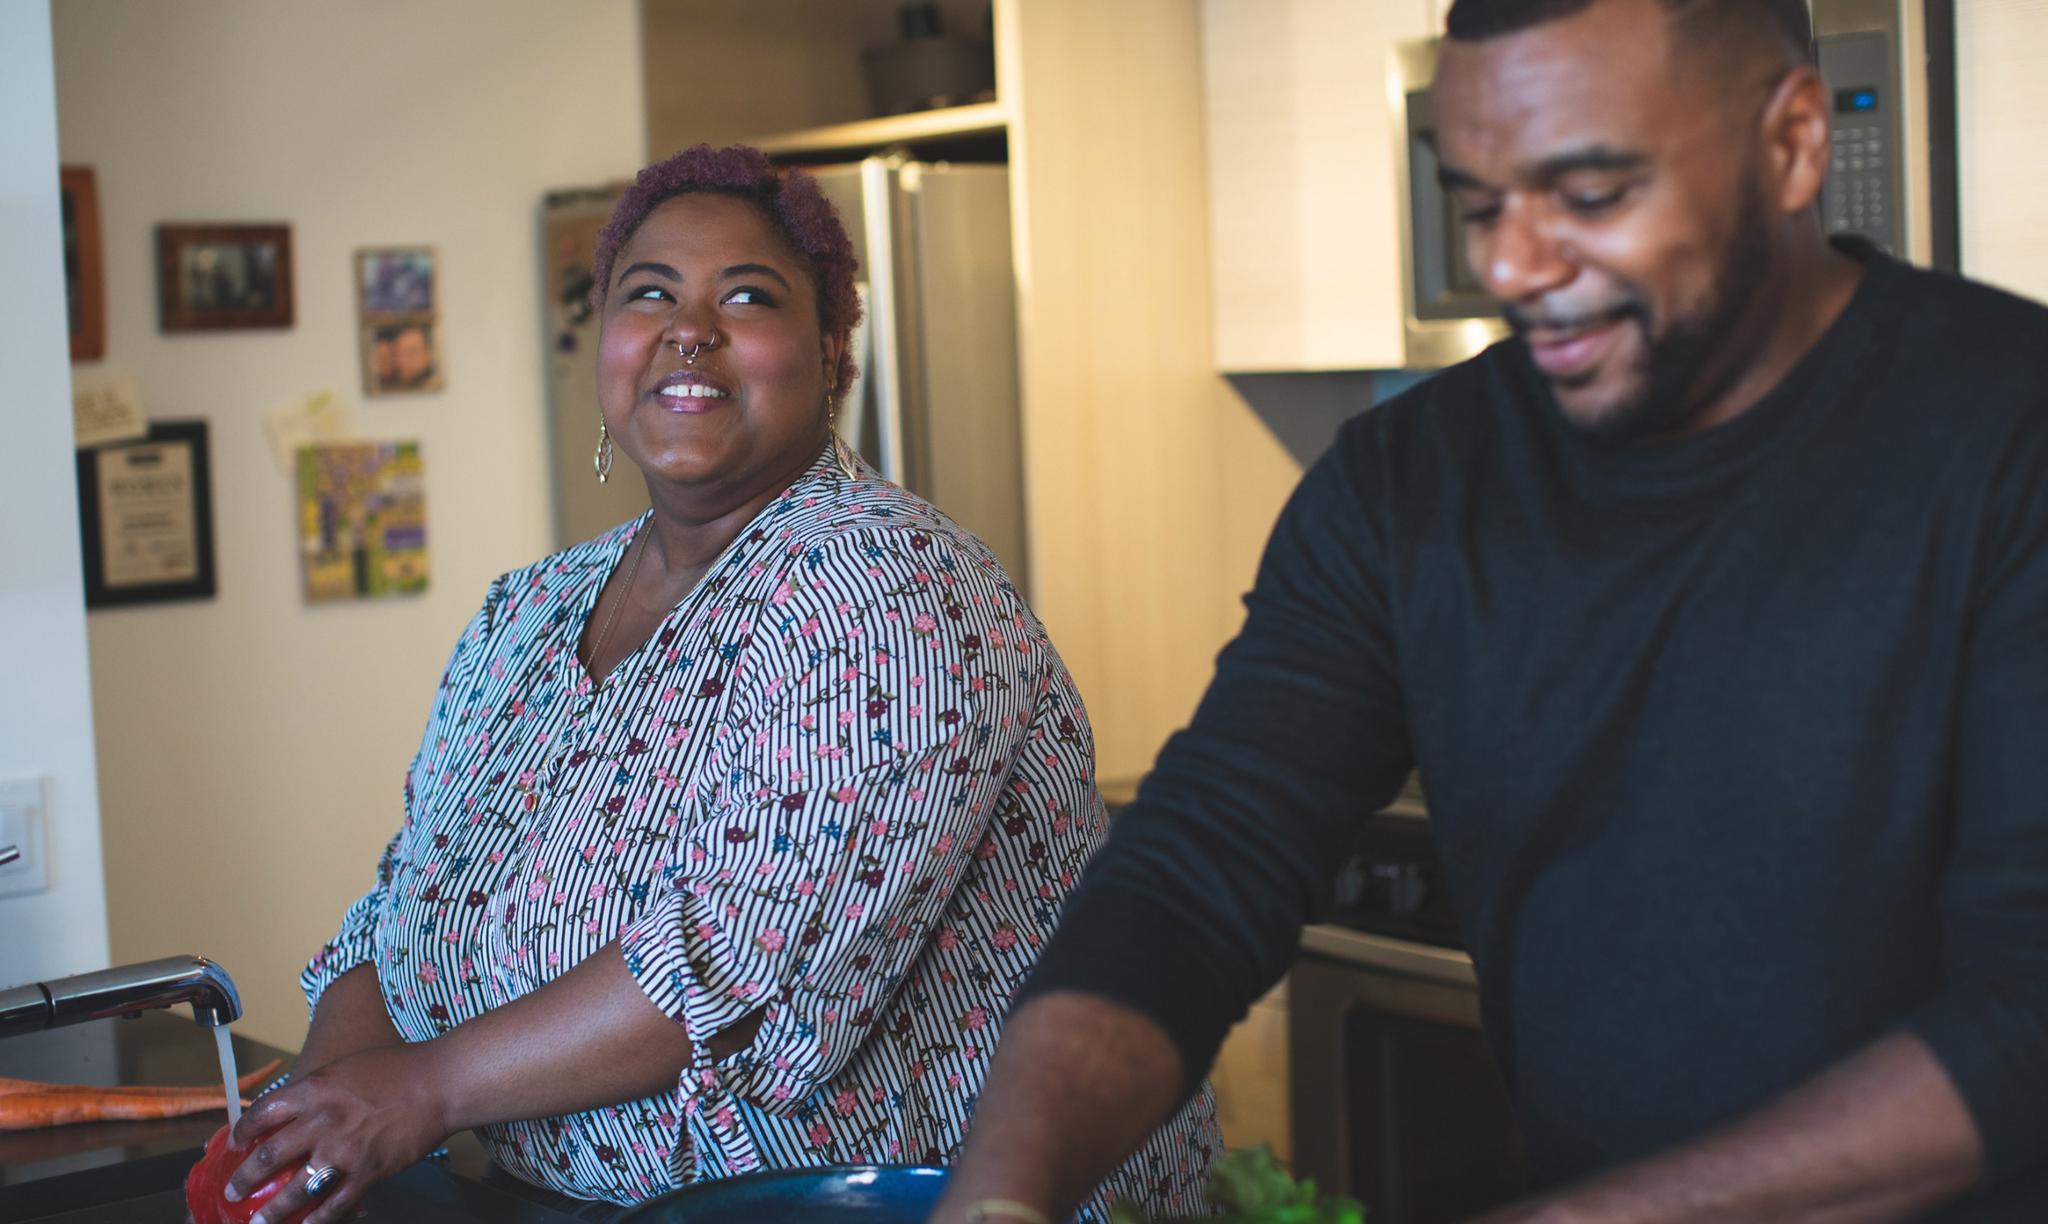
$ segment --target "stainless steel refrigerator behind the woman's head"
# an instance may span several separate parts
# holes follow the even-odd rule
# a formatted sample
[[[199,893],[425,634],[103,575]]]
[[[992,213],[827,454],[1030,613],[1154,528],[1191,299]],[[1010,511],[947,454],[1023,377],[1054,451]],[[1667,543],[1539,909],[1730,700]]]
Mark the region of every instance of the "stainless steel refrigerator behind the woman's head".
[[[860,379],[840,407],[840,432],[891,481],[987,540],[1024,587],[1008,168],[868,158],[809,172],[854,239],[866,305],[854,334]],[[606,199],[559,192],[543,215],[561,544],[647,506],[631,465],[621,463],[608,485],[598,485],[590,469],[598,432],[596,319],[575,303],[590,285],[588,244]]]

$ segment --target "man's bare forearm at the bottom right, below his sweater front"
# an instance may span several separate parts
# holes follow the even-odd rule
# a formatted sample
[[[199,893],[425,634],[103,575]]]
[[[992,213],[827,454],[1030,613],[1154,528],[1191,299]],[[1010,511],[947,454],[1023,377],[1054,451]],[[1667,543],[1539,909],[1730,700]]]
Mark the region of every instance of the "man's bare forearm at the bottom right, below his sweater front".
[[[1724,1130],[1475,1224],[1884,1224],[1982,1169],[1956,1085],[1925,1042],[1894,1034]]]

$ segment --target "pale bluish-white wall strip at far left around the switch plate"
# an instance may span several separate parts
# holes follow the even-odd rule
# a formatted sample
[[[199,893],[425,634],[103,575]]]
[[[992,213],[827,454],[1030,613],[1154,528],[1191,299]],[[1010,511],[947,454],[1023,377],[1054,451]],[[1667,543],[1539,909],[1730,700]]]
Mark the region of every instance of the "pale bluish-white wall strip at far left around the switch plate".
[[[0,897],[0,987],[106,964],[47,0],[0,0],[0,778],[41,778],[49,890]]]

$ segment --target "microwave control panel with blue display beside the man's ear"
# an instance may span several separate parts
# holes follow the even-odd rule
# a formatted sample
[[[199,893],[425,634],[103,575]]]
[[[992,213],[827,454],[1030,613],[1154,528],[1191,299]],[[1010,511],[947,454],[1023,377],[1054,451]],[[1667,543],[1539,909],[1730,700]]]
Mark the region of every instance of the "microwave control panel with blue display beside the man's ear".
[[[1890,39],[1878,31],[1821,39],[1821,76],[1833,102],[1833,160],[1821,188],[1829,233],[1868,237],[1884,254],[1905,246],[1898,207],[1898,88]]]

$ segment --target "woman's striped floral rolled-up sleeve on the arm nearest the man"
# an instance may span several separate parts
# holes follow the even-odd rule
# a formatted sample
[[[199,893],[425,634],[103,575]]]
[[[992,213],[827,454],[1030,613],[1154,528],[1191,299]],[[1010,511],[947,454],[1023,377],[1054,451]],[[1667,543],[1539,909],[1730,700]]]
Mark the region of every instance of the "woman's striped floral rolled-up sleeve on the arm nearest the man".
[[[727,747],[700,778],[717,796],[621,935],[692,1038],[686,1107],[795,1111],[866,1040],[1028,733],[1018,616],[999,571],[930,532],[793,559],[733,665]],[[707,1040],[754,1011],[754,1042],[713,1058]]]

